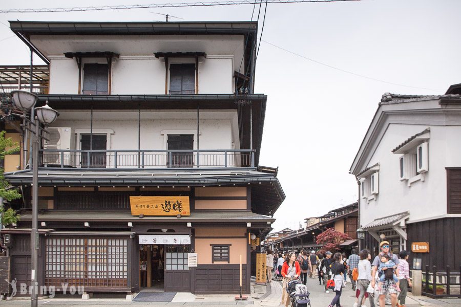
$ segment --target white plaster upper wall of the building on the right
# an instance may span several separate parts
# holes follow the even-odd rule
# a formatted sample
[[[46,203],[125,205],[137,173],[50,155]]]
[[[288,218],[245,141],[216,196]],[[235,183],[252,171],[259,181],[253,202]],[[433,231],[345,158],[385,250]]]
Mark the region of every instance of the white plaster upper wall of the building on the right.
[[[430,127],[429,170],[424,181],[407,185],[400,181],[401,155],[392,149],[409,137]],[[410,211],[409,221],[447,213],[447,183],[445,167],[461,166],[461,126],[390,124],[376,148],[368,166],[380,163],[379,194],[376,200],[360,199],[360,224],[376,217]]]

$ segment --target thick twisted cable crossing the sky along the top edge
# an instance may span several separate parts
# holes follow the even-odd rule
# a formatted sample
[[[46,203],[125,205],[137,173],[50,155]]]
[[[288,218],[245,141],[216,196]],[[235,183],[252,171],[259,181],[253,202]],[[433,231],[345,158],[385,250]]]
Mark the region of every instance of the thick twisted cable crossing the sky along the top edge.
[[[349,2],[361,0],[268,0],[268,3],[306,3],[306,2]],[[201,6],[224,6],[224,5],[255,5],[254,0],[231,0],[212,2],[191,2],[191,3],[164,3],[164,4],[135,4],[100,7],[72,7],[72,8],[39,8],[39,9],[5,9],[0,13],[58,13],[58,12],[83,12],[83,11],[105,11],[105,10],[126,10],[126,9],[149,9],[149,8],[179,8],[179,7],[201,7]]]

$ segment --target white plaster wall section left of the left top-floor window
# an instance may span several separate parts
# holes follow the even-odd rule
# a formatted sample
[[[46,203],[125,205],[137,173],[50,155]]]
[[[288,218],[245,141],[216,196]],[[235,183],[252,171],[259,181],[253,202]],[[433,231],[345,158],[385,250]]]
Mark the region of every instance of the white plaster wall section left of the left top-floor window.
[[[78,94],[78,67],[74,59],[50,60],[50,94]]]

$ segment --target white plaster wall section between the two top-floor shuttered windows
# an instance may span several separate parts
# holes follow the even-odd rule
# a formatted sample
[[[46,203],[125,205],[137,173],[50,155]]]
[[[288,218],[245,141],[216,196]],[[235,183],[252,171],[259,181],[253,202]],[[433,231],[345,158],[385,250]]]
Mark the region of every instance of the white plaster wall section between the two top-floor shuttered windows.
[[[112,64],[111,94],[164,94],[165,64],[152,58],[120,58]]]

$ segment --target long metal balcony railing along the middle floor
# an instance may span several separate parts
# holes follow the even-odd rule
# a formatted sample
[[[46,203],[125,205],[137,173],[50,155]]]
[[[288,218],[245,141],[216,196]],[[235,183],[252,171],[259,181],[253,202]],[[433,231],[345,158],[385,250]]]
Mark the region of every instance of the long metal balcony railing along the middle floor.
[[[251,149],[40,149],[40,166],[66,169],[252,168],[255,167],[255,152]]]

